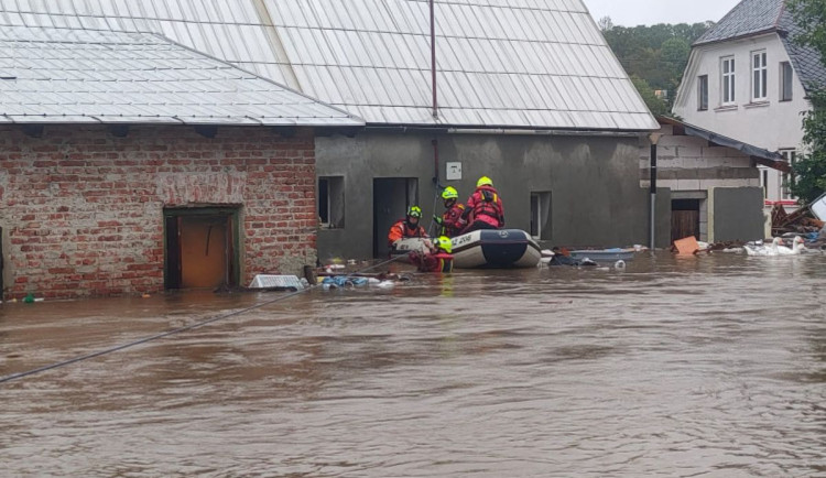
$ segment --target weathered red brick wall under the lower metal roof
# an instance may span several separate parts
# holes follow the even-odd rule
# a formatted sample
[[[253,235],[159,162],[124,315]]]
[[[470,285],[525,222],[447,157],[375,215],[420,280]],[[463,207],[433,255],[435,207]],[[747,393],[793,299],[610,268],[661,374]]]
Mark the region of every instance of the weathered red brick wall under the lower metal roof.
[[[164,207],[238,206],[241,284],[316,260],[312,132],[267,128],[0,127],[6,297],[155,292]]]

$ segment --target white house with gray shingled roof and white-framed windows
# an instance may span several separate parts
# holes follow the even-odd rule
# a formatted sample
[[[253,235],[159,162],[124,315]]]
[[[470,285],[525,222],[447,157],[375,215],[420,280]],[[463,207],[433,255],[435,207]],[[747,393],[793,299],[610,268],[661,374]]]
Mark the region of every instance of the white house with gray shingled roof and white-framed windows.
[[[742,0],[694,43],[674,113],[793,163],[807,91],[826,85],[818,53],[793,42],[798,30],[784,0]],[[761,167],[760,177],[769,204],[793,204],[785,174]]]

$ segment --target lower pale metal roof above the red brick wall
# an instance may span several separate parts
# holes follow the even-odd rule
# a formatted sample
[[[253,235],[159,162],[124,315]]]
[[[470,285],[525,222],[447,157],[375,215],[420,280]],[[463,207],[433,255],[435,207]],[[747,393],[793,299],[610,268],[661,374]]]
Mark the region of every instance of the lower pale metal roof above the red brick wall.
[[[363,124],[146,33],[2,26],[0,78],[3,122]]]

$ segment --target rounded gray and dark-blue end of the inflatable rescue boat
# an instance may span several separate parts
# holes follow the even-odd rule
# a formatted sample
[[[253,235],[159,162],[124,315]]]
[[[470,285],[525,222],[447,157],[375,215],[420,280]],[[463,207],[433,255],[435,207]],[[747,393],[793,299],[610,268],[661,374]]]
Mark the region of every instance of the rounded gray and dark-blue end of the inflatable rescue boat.
[[[475,230],[450,241],[454,268],[534,268],[542,259],[540,246],[521,229]]]

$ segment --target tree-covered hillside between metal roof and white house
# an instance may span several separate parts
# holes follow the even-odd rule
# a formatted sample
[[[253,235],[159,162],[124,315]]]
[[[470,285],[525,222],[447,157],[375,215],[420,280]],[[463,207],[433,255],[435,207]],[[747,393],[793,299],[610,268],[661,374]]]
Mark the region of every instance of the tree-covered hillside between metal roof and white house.
[[[683,72],[688,63],[692,43],[711,23],[657,24],[652,26],[615,26],[610,18],[600,20],[602,34],[619,58],[622,67],[634,80],[640,95],[654,115],[670,115],[671,101],[677,91]],[[644,84],[644,85],[643,85]],[[643,91],[640,87],[651,90]],[[667,100],[654,97],[654,90],[669,93]],[[653,99],[650,99],[653,98]]]

